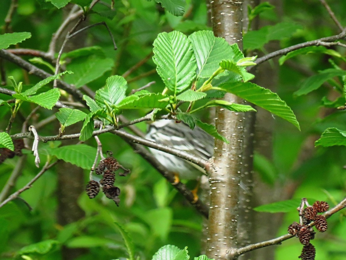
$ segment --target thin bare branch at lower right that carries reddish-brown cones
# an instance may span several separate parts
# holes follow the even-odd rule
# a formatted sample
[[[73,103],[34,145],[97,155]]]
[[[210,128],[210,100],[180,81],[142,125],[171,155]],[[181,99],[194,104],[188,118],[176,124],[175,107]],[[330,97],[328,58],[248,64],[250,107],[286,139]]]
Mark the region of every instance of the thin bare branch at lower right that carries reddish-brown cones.
[[[325,216],[326,218],[329,218],[333,214],[337,213],[338,211],[340,211],[340,210],[342,210],[344,208],[346,208],[346,198],[344,200],[342,200],[334,208],[328,210],[326,213],[324,213],[322,215]],[[309,226],[311,226],[311,227],[314,226],[314,225],[315,225],[314,222],[311,222],[309,224]],[[294,237],[294,235],[286,234],[286,235],[277,237],[275,239],[263,241],[263,242],[252,244],[252,245],[247,245],[247,246],[244,246],[243,248],[229,249],[228,252],[227,252],[227,259],[233,259],[235,257],[238,257],[239,255],[245,254],[245,253],[247,253],[249,251],[256,250],[258,248],[264,248],[264,247],[270,246],[270,245],[280,245],[282,241],[291,239],[292,237]]]

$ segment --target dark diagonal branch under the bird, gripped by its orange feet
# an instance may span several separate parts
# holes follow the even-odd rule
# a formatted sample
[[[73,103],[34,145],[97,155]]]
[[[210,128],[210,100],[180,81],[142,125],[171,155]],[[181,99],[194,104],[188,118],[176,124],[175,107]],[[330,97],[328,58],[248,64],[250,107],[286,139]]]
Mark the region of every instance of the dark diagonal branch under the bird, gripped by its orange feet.
[[[176,183],[176,180],[174,178],[174,174],[167,170],[166,167],[164,167],[160,162],[157,161],[157,159],[149,153],[147,149],[145,149],[143,146],[135,144],[131,139],[121,136],[121,138],[127,142],[137,154],[140,154],[148,163],[150,163],[152,166],[156,168],[158,172],[161,173],[163,177],[169,181],[173,187],[181,193],[186,200],[188,200],[193,207],[195,207],[199,213],[201,213],[204,217],[208,218],[209,216],[209,209],[207,205],[205,205],[200,199],[195,201],[194,195],[192,192],[186,188],[185,184],[178,182]],[[173,184],[174,183],[174,184]]]

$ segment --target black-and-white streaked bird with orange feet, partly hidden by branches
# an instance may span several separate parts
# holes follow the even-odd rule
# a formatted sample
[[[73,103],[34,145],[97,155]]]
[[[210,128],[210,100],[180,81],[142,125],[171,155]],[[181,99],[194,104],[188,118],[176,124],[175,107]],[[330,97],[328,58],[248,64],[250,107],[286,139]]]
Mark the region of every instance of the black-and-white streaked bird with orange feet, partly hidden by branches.
[[[191,129],[184,122],[161,119],[149,124],[146,139],[168,147],[186,151],[202,159],[209,160],[214,151],[214,138],[197,125]],[[202,167],[163,151],[149,148],[154,157],[168,170],[174,173],[175,182],[180,179],[197,180],[198,184],[192,190],[197,199],[200,177],[206,174]]]

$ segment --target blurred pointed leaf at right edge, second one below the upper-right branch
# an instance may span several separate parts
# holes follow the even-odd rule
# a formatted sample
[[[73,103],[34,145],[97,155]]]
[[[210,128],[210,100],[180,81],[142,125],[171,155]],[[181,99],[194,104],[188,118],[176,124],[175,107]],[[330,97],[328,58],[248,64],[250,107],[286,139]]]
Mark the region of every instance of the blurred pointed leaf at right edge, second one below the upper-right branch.
[[[334,78],[336,76],[345,76],[345,70],[339,69],[326,69],[320,71],[319,74],[313,75],[303,82],[301,88],[294,92],[294,95],[301,96],[310,93],[313,90],[318,89],[325,81]]]

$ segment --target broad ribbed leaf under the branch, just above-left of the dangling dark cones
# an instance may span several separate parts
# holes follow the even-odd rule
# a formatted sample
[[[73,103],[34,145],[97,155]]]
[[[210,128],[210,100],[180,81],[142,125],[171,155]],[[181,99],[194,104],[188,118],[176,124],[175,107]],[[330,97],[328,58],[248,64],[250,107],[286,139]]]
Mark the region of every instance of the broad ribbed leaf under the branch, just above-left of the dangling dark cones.
[[[58,147],[51,149],[49,152],[58,159],[86,170],[90,170],[96,156],[96,148],[84,144]]]

